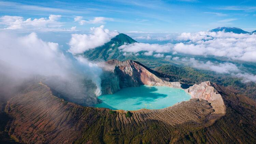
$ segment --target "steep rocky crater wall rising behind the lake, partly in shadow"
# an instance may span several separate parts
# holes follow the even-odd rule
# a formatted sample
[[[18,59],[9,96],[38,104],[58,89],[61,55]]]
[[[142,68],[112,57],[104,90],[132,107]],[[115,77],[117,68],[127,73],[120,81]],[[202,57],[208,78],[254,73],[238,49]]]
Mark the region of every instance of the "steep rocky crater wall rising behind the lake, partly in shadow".
[[[108,80],[110,80],[109,83],[105,80],[105,76],[102,77],[103,83],[101,86],[103,93],[114,93],[118,91],[119,88],[136,87],[139,85],[182,88],[180,82],[168,82],[164,78],[154,74],[153,70],[146,68],[137,61],[118,61],[113,59],[99,63],[99,66],[101,66],[104,71],[112,73],[112,76],[108,77]]]

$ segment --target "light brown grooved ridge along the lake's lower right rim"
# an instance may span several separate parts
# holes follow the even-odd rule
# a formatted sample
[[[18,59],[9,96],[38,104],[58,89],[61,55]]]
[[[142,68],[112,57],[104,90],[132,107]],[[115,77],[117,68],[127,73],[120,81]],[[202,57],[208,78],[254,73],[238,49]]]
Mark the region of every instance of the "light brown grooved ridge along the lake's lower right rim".
[[[123,110],[119,110],[119,118],[124,119],[125,113]],[[208,115],[214,112],[212,106],[206,100],[190,99],[189,101],[183,101],[173,106],[159,109],[159,110],[148,110],[141,109],[137,111],[131,111],[132,118],[125,123],[130,123],[131,120],[136,121],[140,124],[146,120],[159,120],[169,125],[177,125],[183,123],[203,123]]]

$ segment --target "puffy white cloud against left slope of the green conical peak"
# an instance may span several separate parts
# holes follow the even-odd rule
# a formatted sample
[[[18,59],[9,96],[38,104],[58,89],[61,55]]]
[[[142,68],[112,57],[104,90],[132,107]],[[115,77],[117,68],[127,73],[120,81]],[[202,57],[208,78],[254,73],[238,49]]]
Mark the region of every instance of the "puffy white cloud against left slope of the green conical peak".
[[[90,29],[91,34],[72,34],[72,38],[69,42],[70,49],[68,52],[75,54],[82,54],[83,52],[96,48],[109,42],[115,37],[118,32],[109,31],[104,29],[104,26],[93,27]]]

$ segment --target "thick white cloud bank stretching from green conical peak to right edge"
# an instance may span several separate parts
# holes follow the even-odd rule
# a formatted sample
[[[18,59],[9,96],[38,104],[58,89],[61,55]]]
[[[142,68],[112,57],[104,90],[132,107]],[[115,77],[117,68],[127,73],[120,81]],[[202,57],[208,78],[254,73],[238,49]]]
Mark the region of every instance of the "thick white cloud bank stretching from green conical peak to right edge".
[[[181,53],[187,55],[226,57],[230,60],[256,62],[256,34],[230,32],[182,33],[177,44],[133,43],[119,47],[123,52]],[[144,52],[145,53],[145,52]],[[153,55],[152,53],[152,55]]]

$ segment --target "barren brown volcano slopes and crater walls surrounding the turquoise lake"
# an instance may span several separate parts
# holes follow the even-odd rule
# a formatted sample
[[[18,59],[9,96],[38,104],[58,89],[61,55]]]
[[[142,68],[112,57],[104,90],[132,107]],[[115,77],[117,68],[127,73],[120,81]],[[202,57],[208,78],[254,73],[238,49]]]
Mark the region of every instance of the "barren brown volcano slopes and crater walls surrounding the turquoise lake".
[[[102,84],[118,81],[118,85],[105,92],[141,84],[181,87],[135,61],[107,63],[105,69],[116,79],[108,83],[105,79]],[[256,142],[254,101],[211,82],[186,91],[193,99],[161,110],[126,112],[65,101],[54,96],[47,85],[34,81],[6,104],[5,112],[12,119],[5,129],[22,143]]]

